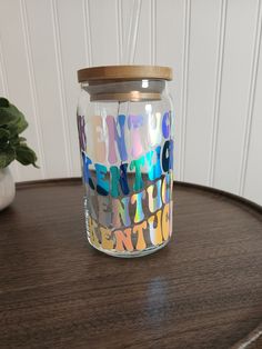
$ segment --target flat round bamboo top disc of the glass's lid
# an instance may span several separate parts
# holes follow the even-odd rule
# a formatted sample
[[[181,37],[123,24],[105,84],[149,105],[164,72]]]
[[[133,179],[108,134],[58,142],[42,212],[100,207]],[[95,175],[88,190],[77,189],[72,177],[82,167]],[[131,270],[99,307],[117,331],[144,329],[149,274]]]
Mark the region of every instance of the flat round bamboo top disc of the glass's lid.
[[[141,79],[172,80],[172,69],[159,66],[104,66],[78,71],[79,82],[95,83]]]

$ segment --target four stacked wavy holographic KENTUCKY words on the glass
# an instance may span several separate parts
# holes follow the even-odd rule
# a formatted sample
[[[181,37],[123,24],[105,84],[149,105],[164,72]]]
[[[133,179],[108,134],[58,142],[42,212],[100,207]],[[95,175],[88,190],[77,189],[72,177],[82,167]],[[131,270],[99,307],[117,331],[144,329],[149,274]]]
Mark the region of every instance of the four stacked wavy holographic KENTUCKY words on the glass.
[[[78,129],[91,245],[133,252],[164,243],[172,233],[171,112],[148,119],[95,116],[94,158],[88,153],[83,117],[78,117]]]

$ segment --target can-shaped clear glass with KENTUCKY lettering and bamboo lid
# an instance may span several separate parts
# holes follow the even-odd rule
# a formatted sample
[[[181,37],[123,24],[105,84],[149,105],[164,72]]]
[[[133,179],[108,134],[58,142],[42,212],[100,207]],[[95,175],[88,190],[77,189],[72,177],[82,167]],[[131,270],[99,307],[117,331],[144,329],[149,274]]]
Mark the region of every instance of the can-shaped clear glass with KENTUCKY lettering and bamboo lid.
[[[115,257],[154,252],[172,235],[172,70],[95,67],[78,79],[88,240]]]

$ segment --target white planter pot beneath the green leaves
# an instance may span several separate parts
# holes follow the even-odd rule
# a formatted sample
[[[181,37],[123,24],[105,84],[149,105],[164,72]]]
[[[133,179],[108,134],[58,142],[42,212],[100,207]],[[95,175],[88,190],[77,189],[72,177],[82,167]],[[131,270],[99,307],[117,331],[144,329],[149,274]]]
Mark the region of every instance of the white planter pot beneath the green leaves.
[[[9,168],[0,169],[0,210],[8,207],[14,199],[16,187]]]

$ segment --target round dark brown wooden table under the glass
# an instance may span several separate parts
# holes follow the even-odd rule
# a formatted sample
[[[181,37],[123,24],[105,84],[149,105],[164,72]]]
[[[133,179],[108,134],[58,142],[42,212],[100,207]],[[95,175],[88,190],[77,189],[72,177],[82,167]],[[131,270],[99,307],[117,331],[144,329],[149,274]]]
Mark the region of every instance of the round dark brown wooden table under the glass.
[[[181,183],[174,201],[169,246],[117,259],[88,245],[79,179],[20,185],[0,212],[0,348],[213,349],[251,332],[262,209]]]

